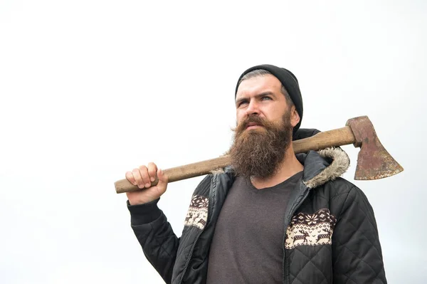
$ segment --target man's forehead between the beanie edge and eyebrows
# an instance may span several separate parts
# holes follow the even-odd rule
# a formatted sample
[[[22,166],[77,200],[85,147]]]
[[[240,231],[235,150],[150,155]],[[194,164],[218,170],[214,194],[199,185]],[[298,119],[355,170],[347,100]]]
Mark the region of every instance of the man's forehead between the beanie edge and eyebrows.
[[[247,96],[264,93],[266,90],[275,90],[282,87],[280,80],[274,75],[259,75],[253,78],[243,80],[237,89],[236,99]]]

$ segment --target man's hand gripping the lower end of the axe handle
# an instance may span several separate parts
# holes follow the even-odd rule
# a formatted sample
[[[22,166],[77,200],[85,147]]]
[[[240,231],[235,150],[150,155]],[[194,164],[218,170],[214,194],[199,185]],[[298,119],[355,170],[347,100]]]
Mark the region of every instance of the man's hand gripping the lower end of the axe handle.
[[[159,183],[156,186],[151,186],[151,182],[154,182],[156,177],[159,179]],[[157,169],[154,163],[149,163],[147,167],[139,166],[138,169],[127,172],[126,179],[131,184],[143,189],[141,191],[126,192],[130,205],[144,204],[158,199],[166,191],[168,182],[167,176],[162,172],[162,169]]]

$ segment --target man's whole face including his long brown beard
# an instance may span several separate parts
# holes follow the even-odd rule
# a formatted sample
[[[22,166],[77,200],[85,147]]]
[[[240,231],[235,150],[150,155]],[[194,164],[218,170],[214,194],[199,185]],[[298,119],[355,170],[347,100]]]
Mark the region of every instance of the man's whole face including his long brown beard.
[[[229,151],[236,174],[268,178],[283,161],[299,117],[295,107],[288,107],[281,87],[273,75],[244,80],[239,86],[237,127]]]

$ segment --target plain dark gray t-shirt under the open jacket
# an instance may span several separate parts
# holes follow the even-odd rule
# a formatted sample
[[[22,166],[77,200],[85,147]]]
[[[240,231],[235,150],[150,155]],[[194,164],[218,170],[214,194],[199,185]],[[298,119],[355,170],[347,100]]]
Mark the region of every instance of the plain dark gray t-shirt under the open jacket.
[[[209,253],[207,283],[282,283],[285,209],[302,177],[256,189],[238,177],[216,223]]]

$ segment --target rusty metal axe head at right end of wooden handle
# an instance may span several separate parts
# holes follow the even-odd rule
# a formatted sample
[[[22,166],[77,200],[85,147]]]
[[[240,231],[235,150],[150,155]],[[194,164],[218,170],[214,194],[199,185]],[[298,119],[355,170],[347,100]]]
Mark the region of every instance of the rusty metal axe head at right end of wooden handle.
[[[354,134],[354,147],[360,147],[354,179],[382,179],[404,170],[379,142],[374,126],[367,116],[352,118],[346,125]]]

